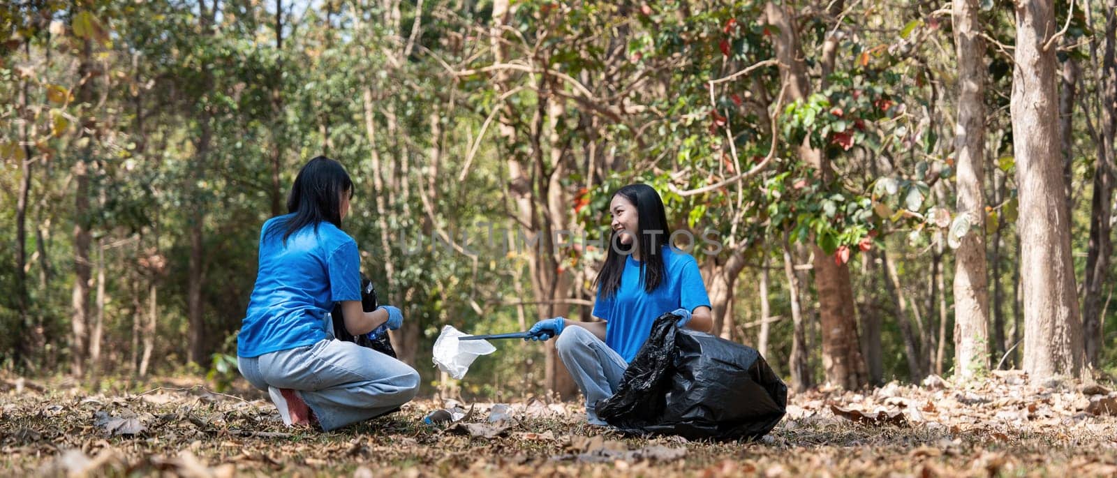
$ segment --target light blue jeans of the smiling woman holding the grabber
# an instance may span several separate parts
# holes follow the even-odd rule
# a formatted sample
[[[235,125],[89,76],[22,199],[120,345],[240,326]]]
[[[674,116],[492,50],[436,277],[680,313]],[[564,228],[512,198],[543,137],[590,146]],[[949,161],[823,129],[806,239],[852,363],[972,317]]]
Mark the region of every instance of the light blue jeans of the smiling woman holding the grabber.
[[[585,417],[590,424],[608,424],[598,418],[595,405],[599,400],[617,393],[628,362],[592,332],[576,325],[563,328],[555,341],[555,348],[577,389],[585,395]]]

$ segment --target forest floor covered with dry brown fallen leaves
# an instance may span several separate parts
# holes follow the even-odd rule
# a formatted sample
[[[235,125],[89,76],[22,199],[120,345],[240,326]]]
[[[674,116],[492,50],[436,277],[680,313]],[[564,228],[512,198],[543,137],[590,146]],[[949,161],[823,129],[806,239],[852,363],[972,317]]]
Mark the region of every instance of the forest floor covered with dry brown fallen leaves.
[[[462,403],[471,413],[446,428],[422,418],[448,403],[417,400],[319,432],[285,428],[255,391],[213,393],[200,380],[90,394],[0,375],[0,475],[1117,475],[1111,384],[1032,382],[997,372],[966,385],[932,377],[925,386],[811,391],[793,395],[761,440],[704,442],[626,437],[585,424],[575,403],[531,398]]]

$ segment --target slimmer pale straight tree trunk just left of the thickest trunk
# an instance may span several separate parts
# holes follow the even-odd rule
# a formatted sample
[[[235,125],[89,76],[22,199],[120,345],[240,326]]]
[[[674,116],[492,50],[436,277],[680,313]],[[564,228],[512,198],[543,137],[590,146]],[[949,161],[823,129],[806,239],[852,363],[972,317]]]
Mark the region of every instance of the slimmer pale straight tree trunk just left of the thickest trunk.
[[[954,266],[954,375],[989,370],[989,277],[985,265],[985,41],[977,0],[955,0],[954,46],[958,56],[957,210],[970,218]]]

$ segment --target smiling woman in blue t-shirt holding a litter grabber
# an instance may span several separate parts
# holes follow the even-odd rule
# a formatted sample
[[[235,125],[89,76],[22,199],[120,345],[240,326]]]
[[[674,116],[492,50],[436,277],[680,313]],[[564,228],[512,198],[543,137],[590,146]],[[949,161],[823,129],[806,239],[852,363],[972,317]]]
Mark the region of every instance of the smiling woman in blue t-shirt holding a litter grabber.
[[[532,340],[558,337],[558,356],[585,395],[590,423],[598,426],[605,422],[598,419],[596,402],[617,392],[657,317],[672,312],[680,317],[679,327],[703,332],[714,325],[698,262],[669,243],[659,193],[647,184],[626,185],[613,194],[609,212],[613,231],[593,305],[593,316],[604,322],[555,317],[529,331]]]

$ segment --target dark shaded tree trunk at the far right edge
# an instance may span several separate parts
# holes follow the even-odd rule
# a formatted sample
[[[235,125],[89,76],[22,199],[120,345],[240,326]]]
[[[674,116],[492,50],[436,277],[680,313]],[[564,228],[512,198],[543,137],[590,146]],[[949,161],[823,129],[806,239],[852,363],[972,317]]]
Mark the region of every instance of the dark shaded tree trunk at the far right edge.
[[[1102,340],[1104,290],[1109,278],[1113,255],[1110,218],[1113,216],[1114,161],[1117,159],[1117,1],[1109,0],[1106,8],[1106,47],[1099,75],[1101,96],[1101,125],[1098,145],[1098,164],[1094,173],[1094,199],[1090,204],[1090,245],[1086,257],[1086,280],[1082,297],[1082,337],[1086,361],[1100,366]]]

